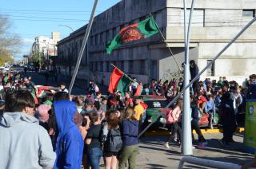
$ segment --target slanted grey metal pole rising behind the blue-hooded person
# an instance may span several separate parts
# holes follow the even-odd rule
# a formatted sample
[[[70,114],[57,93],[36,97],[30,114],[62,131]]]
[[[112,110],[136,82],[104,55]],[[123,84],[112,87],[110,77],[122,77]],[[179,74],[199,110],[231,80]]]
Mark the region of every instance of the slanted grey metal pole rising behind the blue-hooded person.
[[[73,85],[74,85],[74,80],[75,80],[75,78],[77,77],[77,74],[78,74],[78,69],[79,69],[79,66],[80,66],[80,63],[81,63],[81,60],[82,60],[82,55],[83,55],[84,50],[86,48],[86,43],[87,43],[87,40],[88,40],[88,37],[89,37],[89,34],[90,34],[91,26],[94,22],[94,14],[95,14],[97,4],[98,4],[98,0],[94,0],[94,7],[93,7],[93,10],[91,11],[91,14],[90,14],[90,21],[89,21],[89,23],[87,25],[87,28],[86,28],[86,34],[85,34],[85,37],[83,38],[83,41],[82,41],[82,46],[81,46],[81,49],[80,49],[80,52],[79,52],[79,55],[78,55],[77,65],[75,65],[74,74],[73,74],[72,80],[70,82],[69,94],[71,94],[71,91],[72,91],[72,88],[73,88]]]

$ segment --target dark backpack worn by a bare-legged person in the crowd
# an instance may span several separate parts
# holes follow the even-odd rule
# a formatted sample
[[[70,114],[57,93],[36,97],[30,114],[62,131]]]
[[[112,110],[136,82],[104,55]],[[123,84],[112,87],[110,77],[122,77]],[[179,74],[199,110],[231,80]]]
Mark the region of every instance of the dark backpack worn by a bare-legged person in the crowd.
[[[120,128],[112,128],[109,130],[105,142],[106,151],[118,152],[122,149],[122,136]]]

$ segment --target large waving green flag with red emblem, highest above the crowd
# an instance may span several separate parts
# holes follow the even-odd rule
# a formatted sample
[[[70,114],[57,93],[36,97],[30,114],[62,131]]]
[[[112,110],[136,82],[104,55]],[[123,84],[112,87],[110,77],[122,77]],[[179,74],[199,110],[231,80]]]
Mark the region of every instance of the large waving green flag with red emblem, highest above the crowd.
[[[126,26],[120,30],[112,41],[106,44],[106,53],[112,53],[114,49],[119,48],[125,42],[138,41],[146,37],[151,37],[158,32],[158,27],[156,26],[153,17],[146,18],[142,22]]]

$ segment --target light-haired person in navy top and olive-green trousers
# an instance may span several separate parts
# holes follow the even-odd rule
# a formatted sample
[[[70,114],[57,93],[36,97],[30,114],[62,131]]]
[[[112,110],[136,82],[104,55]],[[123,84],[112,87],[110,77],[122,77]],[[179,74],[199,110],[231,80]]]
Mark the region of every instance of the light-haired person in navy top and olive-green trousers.
[[[134,117],[134,108],[126,108],[122,121],[122,151],[119,161],[119,169],[126,167],[128,160],[129,168],[136,168],[138,155],[138,121]]]

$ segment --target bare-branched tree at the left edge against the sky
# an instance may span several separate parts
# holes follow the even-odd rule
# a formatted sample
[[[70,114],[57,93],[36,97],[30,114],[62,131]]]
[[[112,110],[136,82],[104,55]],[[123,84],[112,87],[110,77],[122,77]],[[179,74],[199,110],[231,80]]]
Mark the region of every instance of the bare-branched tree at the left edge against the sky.
[[[18,53],[18,45],[22,45],[18,34],[12,32],[10,20],[0,14],[0,65],[13,61],[12,56]]]

